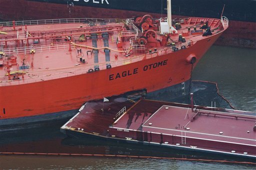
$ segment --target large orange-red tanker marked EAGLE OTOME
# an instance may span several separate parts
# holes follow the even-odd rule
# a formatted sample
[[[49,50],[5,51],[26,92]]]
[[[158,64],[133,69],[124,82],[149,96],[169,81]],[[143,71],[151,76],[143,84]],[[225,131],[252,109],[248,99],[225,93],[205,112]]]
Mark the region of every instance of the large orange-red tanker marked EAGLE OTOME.
[[[191,72],[228,19],[70,18],[1,22],[0,126],[73,115],[86,101],[189,93]]]

